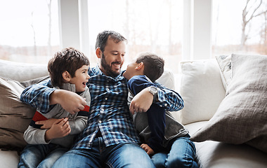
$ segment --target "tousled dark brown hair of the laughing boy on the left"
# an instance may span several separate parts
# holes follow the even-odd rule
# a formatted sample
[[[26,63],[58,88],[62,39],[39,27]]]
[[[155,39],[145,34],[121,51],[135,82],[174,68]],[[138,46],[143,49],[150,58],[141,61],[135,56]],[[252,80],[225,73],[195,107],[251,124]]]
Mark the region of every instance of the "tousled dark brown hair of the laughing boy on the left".
[[[90,65],[88,57],[75,48],[65,48],[56,52],[47,66],[52,85],[62,87],[62,73],[67,71],[74,78],[75,71],[84,65]]]

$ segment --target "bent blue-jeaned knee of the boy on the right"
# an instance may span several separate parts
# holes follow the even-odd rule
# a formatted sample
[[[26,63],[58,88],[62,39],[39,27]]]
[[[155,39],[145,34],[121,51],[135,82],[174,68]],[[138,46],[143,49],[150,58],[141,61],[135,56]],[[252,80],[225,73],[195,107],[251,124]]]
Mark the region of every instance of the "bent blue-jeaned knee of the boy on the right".
[[[167,155],[166,167],[192,167],[197,168],[195,162],[195,144],[190,141],[190,136],[177,138]]]

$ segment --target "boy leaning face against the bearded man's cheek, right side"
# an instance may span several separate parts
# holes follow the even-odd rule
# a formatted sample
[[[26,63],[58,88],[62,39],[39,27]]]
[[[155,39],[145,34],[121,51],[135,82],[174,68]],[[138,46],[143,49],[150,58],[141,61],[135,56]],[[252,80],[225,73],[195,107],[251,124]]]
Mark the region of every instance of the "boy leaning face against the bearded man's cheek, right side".
[[[171,167],[171,165],[176,165],[177,167],[179,164],[183,164],[183,160],[179,160],[179,156],[183,155],[188,157],[186,161],[191,162],[189,165],[197,167],[194,161],[195,145],[190,141],[188,131],[171,116],[171,113],[167,111],[168,109],[164,106],[157,105],[157,88],[162,88],[164,86],[156,83],[155,80],[162,76],[163,72],[164,59],[155,54],[146,52],[141,53],[141,55],[137,57],[136,62],[129,64],[123,74],[123,76],[129,80],[129,104],[134,95],[147,87],[154,97],[153,103],[146,113],[136,113],[136,111],[133,113],[133,123],[141,139],[145,142],[145,144],[141,144],[141,148],[150,156],[155,153],[165,153],[166,161],[164,160],[163,163],[156,159],[157,154],[155,155],[155,159],[153,159],[152,156],[152,161],[156,167]],[[182,99],[181,104],[183,104]],[[183,106],[181,106],[181,109],[182,108]],[[175,141],[185,141],[185,144],[189,144],[189,146],[184,146],[183,148],[187,148],[190,152],[183,153],[183,150],[180,150],[180,146],[177,147]],[[174,148],[180,149],[176,151],[171,150]],[[169,153],[169,155],[167,155],[167,153]]]

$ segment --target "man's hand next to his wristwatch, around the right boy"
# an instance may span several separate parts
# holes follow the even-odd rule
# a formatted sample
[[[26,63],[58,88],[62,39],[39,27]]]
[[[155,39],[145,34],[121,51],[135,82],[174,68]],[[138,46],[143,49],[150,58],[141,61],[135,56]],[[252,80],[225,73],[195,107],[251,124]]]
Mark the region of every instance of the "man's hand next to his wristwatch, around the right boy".
[[[136,94],[131,100],[130,111],[133,114],[136,112],[146,112],[153,102],[153,95],[148,91],[148,88],[143,89]]]

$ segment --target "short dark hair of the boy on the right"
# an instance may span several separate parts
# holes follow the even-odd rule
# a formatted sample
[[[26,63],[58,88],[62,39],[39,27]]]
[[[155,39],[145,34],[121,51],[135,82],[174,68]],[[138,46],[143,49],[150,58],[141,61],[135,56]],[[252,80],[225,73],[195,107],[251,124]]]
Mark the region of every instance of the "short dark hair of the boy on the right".
[[[144,52],[138,55],[136,63],[143,62],[145,65],[144,75],[148,76],[152,82],[157,80],[164,72],[164,59],[150,52]]]

